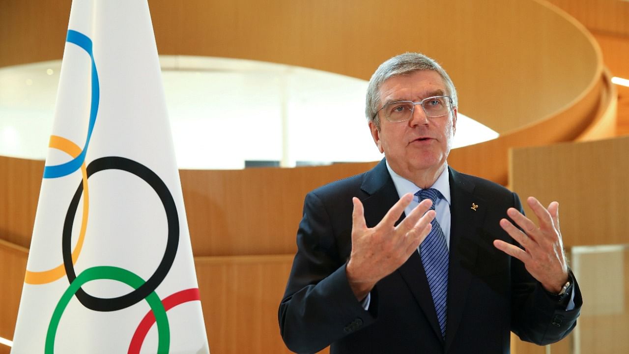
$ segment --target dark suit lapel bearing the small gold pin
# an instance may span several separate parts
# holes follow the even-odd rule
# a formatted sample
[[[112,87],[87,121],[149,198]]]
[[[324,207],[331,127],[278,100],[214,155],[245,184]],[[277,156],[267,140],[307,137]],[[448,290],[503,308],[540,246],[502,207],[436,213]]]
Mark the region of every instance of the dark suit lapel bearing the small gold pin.
[[[465,269],[476,264],[478,246],[475,238],[489,205],[473,192],[474,185],[465,176],[450,168],[450,268],[446,353],[454,341],[463,316],[471,280]]]

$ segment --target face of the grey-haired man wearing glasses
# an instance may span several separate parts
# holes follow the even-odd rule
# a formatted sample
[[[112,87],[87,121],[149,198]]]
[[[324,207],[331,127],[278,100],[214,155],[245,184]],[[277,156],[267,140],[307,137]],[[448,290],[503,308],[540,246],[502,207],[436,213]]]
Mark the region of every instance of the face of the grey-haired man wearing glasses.
[[[418,102],[426,97],[447,95],[445,83],[435,71],[415,71],[394,76],[380,87],[381,108],[393,101]],[[417,173],[440,173],[450,153],[456,130],[457,110],[443,117],[426,117],[420,105],[406,122],[389,122],[379,113],[380,129],[369,123],[380,152],[399,175],[414,180]],[[435,176],[436,178],[437,176]]]

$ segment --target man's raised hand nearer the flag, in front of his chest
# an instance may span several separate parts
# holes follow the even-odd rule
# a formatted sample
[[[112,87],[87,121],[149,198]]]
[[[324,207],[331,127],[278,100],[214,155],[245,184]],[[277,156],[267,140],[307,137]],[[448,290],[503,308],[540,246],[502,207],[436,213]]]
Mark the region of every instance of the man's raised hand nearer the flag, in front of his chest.
[[[426,212],[432,202],[425,199],[398,226],[395,222],[413,200],[407,193],[374,227],[367,227],[364,208],[352,198],[352,253],[345,271],[350,287],[362,301],[379,280],[393,273],[417,250],[430,232],[435,211]]]

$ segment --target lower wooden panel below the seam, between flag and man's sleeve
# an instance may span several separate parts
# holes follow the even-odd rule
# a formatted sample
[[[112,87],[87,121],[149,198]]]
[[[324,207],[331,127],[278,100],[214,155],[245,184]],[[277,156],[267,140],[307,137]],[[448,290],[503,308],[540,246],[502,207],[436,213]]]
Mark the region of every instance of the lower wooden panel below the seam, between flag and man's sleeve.
[[[277,308],[292,254],[196,257],[212,354],[291,353],[279,334]]]

